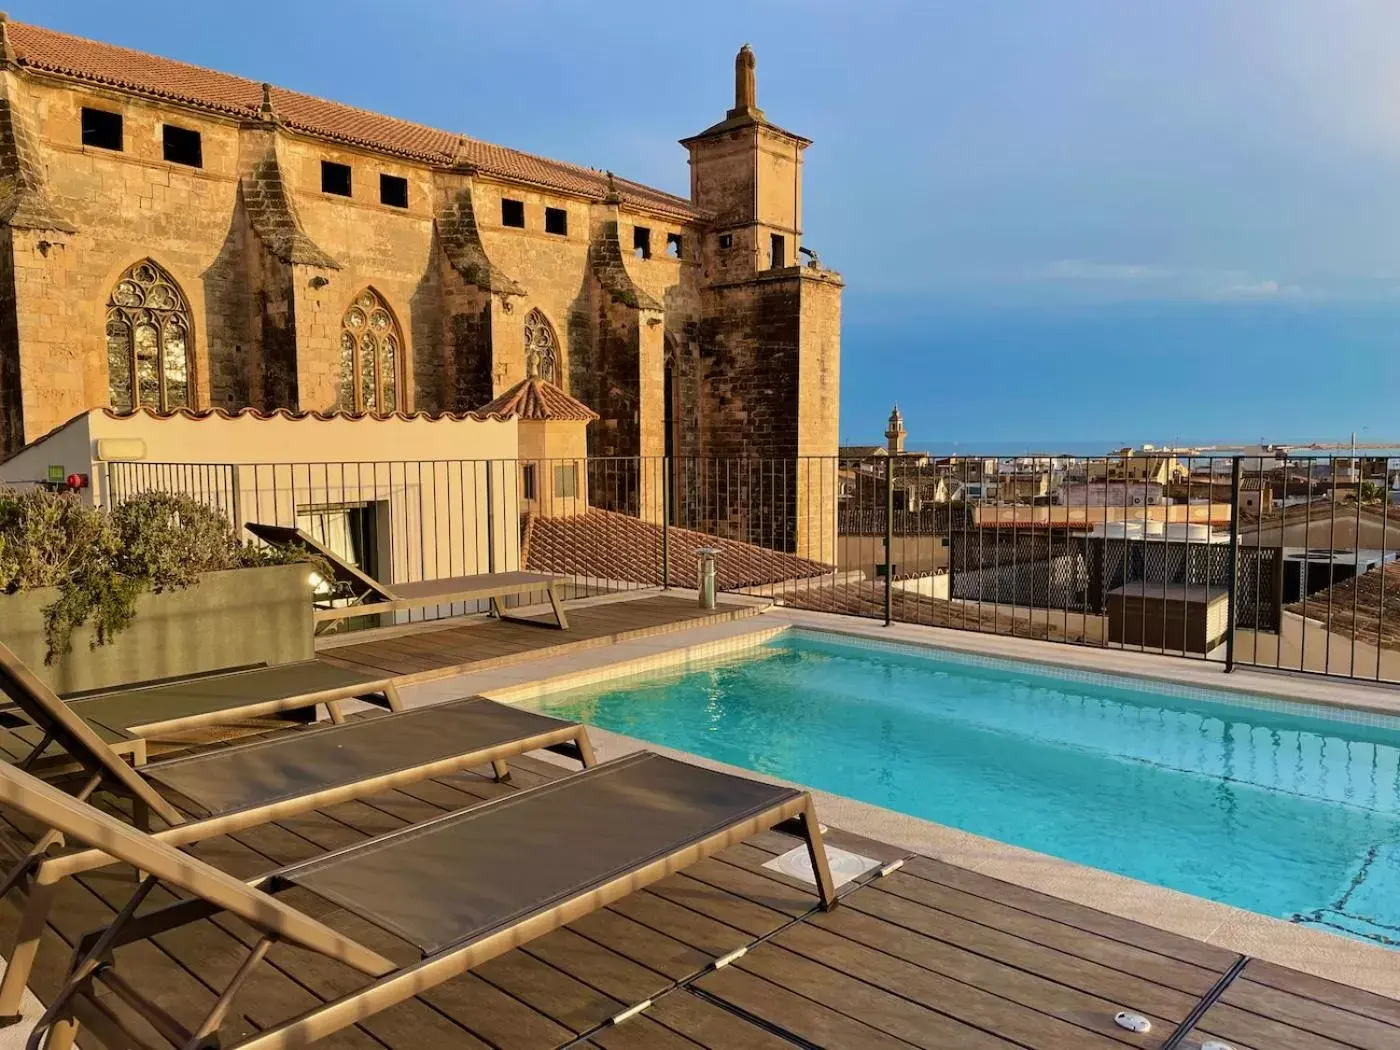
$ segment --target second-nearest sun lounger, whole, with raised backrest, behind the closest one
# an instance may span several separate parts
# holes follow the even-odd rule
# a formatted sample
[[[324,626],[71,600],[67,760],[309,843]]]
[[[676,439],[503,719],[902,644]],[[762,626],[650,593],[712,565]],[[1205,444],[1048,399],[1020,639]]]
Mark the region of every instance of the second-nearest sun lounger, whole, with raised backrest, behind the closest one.
[[[3,645],[0,686],[36,731],[83,769],[87,780],[78,799],[106,787],[132,799],[139,826],[148,826],[154,812],[172,825],[162,834],[182,846],[486,763],[504,778],[507,759],[538,749],[563,750],[585,767],[594,764],[588,732],[578,722],[470,697],[133,769],[81,708],[59,700]],[[182,809],[203,819],[188,820]],[[31,885],[18,945],[0,980],[0,1018],[17,1016],[53,899],[52,883],[41,888],[36,867],[56,841],[52,832],[41,834],[0,883],[0,896]],[[91,855],[64,861],[69,874],[104,862]]]

